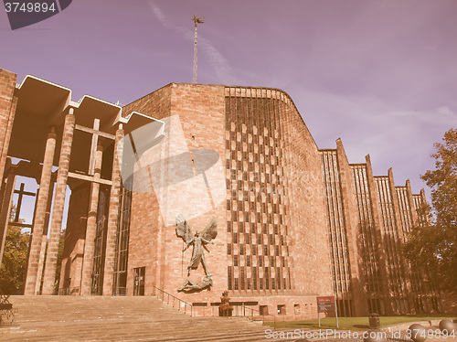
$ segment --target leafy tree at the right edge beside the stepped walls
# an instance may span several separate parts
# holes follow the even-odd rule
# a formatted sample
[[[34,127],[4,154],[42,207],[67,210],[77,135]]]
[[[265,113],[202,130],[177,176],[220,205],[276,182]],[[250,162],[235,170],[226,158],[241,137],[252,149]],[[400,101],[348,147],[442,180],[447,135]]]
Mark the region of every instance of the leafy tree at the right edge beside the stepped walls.
[[[420,176],[431,188],[430,224],[416,227],[405,244],[407,258],[424,265],[441,290],[457,288],[457,129],[434,144],[435,170]]]

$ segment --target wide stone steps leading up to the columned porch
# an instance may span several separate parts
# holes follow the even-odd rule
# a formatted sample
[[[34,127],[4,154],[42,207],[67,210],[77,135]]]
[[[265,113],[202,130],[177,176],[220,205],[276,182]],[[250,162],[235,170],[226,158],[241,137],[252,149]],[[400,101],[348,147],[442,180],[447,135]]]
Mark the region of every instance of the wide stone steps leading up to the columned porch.
[[[244,317],[191,317],[154,297],[11,296],[0,341],[279,341]]]

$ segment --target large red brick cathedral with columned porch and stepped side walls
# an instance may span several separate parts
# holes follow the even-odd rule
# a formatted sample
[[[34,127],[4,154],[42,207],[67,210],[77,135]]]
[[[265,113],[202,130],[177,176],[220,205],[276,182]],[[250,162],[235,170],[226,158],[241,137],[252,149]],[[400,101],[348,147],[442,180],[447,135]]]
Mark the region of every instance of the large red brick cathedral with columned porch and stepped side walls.
[[[290,319],[317,296],[348,316],[441,309],[400,252],[423,190],[351,164],[340,139],[320,149],[284,91],[170,83],[121,107],[0,69],[0,144],[0,255],[9,225],[32,230],[25,294],[166,292],[206,315],[228,290]]]

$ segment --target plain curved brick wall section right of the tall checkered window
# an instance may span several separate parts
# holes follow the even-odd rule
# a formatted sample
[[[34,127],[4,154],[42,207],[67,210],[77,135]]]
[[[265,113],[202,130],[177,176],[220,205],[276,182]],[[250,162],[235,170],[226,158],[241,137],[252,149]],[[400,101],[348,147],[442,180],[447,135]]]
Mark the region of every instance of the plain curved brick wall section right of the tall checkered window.
[[[299,294],[333,294],[325,223],[321,156],[288,96],[281,112],[288,197],[292,285]]]

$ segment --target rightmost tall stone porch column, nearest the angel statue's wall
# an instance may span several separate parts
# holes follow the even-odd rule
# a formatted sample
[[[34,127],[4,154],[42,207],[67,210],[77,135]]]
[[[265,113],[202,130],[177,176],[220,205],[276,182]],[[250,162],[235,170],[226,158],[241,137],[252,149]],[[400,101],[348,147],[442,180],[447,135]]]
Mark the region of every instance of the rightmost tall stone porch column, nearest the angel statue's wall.
[[[108,232],[106,236],[105,270],[103,273],[103,294],[112,295],[114,276],[114,253],[116,251],[116,232],[119,224],[119,198],[122,188],[122,153],[123,129],[122,123],[116,131],[114,156],[112,158],[112,190],[110,193],[110,208],[108,211]]]

